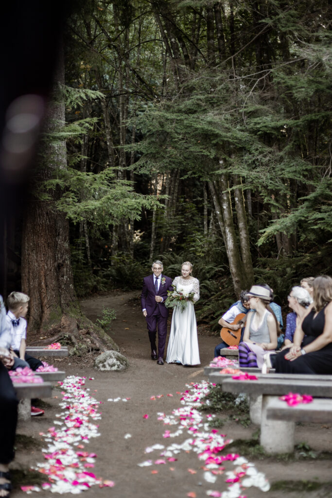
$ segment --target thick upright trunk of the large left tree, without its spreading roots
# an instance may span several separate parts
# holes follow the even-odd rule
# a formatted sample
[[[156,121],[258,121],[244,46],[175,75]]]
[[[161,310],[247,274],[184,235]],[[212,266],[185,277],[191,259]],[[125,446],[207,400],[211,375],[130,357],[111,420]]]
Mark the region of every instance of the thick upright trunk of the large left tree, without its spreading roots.
[[[64,83],[61,61],[57,81]],[[52,133],[65,124],[65,104],[53,101],[44,128]],[[43,150],[40,181],[52,176],[55,167],[67,167],[66,142],[49,143]],[[69,224],[56,210],[55,192],[49,201],[30,199],[26,206],[22,233],[22,290],[30,296],[29,329],[47,331],[60,323],[64,314],[79,309],[70,263]]]

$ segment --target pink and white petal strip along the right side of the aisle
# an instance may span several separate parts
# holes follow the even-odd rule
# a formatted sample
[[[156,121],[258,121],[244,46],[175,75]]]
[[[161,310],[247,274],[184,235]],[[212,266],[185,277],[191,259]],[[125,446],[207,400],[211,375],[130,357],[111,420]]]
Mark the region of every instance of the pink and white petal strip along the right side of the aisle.
[[[226,455],[219,455],[220,452],[231,442],[225,435],[221,434],[217,429],[211,429],[208,421],[214,418],[215,415],[204,415],[199,408],[202,404],[202,398],[206,396],[210,390],[210,384],[207,381],[201,383],[191,383],[187,385],[188,389],[181,393],[182,407],[173,410],[171,415],[165,415],[159,412],[157,414],[158,420],[161,420],[165,425],[177,425],[175,431],[166,429],[163,437],[164,439],[175,438],[182,436],[184,433],[189,434],[190,437],[185,438],[180,443],[172,443],[168,446],[164,444],[155,444],[145,449],[145,453],[149,454],[156,450],[162,450],[158,458],[145,460],[137,464],[139,467],[153,467],[150,471],[152,474],[157,474],[158,465],[176,465],[175,462],[180,458],[181,452],[194,451],[197,453],[198,460],[203,462],[196,469],[188,469],[190,474],[199,474],[198,481],[204,479],[215,489],[206,491],[207,496],[220,497],[220,498],[245,498],[243,494],[245,488],[255,486],[262,491],[268,491],[270,485],[265,479],[264,474],[257,471],[255,466],[248,462],[245,458],[238,454],[229,453]],[[171,396],[172,394],[168,394]],[[151,400],[157,400],[162,395],[151,396]],[[143,415],[148,418],[148,414]],[[207,419],[207,421],[205,421]],[[183,460],[183,459],[182,459]],[[225,465],[229,467],[231,462],[235,468],[226,470]],[[174,470],[174,467],[170,467]],[[200,476],[202,474],[202,476]],[[227,483],[226,491],[221,491],[225,485],[217,484],[220,476],[223,476],[224,481]],[[195,483],[193,483],[194,485]],[[197,484],[197,479],[196,479]],[[187,493],[190,498],[195,498],[195,491]]]

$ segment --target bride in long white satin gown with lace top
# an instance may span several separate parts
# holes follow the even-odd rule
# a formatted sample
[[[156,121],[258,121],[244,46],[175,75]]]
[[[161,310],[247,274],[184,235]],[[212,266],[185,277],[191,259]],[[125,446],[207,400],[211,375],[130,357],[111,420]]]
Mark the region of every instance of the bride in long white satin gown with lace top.
[[[181,267],[181,276],[173,280],[173,288],[185,295],[194,292],[193,300],[200,298],[200,282],[191,275],[193,265],[185,261]],[[194,304],[187,301],[187,307],[181,311],[176,307],[173,310],[171,332],[167,347],[167,363],[182,365],[199,365],[200,354],[198,350],[197,325]]]

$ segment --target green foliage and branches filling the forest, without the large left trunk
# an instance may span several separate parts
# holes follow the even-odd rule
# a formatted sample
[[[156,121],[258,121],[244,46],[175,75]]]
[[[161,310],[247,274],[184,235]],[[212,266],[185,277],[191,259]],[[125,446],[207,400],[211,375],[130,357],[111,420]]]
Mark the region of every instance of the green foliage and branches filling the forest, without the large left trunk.
[[[158,5],[160,20],[151,5]],[[72,223],[88,221],[92,237],[107,238],[110,225],[121,227],[128,217],[141,230],[142,242],[128,261],[121,252],[111,265],[94,259],[95,269],[87,272],[90,288],[97,272],[98,278],[103,275],[97,284],[101,289],[107,288],[107,279],[115,286],[124,282],[132,288],[132,281],[140,286],[146,272],[135,260],[148,259],[151,210],[156,208],[155,253],[172,277],[180,274],[184,260],[193,262],[201,286],[197,316],[215,327],[235,297],[224,244],[216,237],[219,227],[207,237],[202,226],[203,182],[218,184],[221,173],[229,179],[230,192],[233,174],[251,192],[248,224],[255,279],[269,283],[281,303],[302,276],[332,270],[327,247],[332,240],[332,45],[326,1],[290,0],[285,8],[284,1],[267,0],[256,10],[252,2],[240,0],[233,19],[230,4],[220,10],[225,53],[218,54],[216,43],[216,60],[211,60],[206,43],[209,6],[211,2],[199,0],[153,1],[148,6],[141,0],[125,5],[116,1],[98,9],[89,3],[84,15],[75,15],[70,50],[74,47],[77,57],[70,57],[67,74],[76,88],[64,89],[71,123],[59,139],[72,133],[68,143],[73,144],[75,167],[83,157],[80,141],[88,135],[93,173],[60,175],[49,187],[61,189],[58,208]],[[217,2],[214,8],[219,6]],[[166,29],[166,38],[173,37],[166,49],[159,28],[170,19],[174,33]],[[178,56],[172,53],[173,43],[179,43]],[[188,59],[182,57],[184,47]],[[93,93],[96,88],[103,93]],[[102,98],[111,120],[114,164],[105,145]],[[87,121],[76,122],[78,112],[89,116]],[[123,116],[128,117],[124,147],[119,127]],[[96,117],[98,121],[90,121]],[[125,166],[119,160],[123,151]],[[111,168],[104,172],[110,163],[121,165],[121,178],[128,179],[133,171],[136,184],[117,180]],[[160,184],[166,174],[172,178],[178,171],[178,190],[174,193],[172,180],[167,205],[162,199],[166,188]],[[158,196],[152,178],[158,178]],[[153,195],[143,199],[135,192]],[[237,228],[234,205],[232,210]],[[214,211],[209,204],[209,217]],[[216,225],[213,216],[211,222]],[[275,236],[285,235],[289,249],[279,253]],[[126,252],[124,238],[119,245]]]

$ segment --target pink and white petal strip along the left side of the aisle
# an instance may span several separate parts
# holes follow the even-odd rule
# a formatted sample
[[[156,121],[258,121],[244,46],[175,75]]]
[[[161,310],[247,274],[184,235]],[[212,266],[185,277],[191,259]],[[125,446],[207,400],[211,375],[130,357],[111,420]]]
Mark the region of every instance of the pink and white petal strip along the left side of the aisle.
[[[90,378],[89,380],[93,380]],[[43,449],[45,462],[38,463],[35,470],[45,475],[41,488],[52,493],[79,494],[91,486],[113,487],[113,481],[103,480],[91,471],[97,455],[86,451],[89,439],[100,436],[98,424],[101,419],[97,407],[99,402],[84,389],[85,377],[69,376],[63,382],[61,412],[56,415],[54,426],[47,433],[40,432],[47,448]],[[92,420],[92,421],[91,421]],[[22,486],[28,494],[41,491],[39,486]]]

